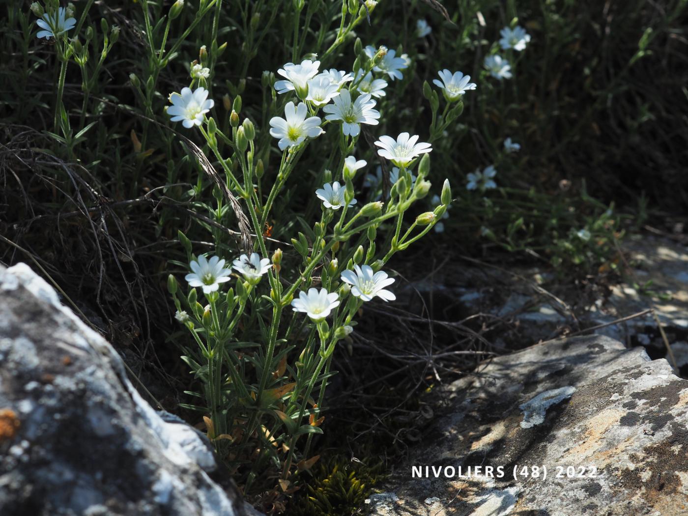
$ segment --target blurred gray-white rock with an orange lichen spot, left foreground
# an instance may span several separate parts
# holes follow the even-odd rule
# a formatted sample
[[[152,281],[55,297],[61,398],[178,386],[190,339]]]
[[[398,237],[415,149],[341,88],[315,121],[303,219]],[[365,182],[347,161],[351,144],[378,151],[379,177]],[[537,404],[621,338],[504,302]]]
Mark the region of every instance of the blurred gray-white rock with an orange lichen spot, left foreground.
[[[256,514],[207,440],[156,413],[118,354],[25,264],[0,267],[0,514]]]

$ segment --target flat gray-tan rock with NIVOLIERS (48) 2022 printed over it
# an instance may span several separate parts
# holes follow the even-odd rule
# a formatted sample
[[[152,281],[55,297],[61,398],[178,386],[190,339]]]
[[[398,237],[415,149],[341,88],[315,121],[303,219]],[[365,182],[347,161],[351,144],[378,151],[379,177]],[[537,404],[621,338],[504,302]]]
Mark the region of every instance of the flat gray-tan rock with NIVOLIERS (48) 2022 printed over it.
[[[643,348],[606,336],[536,345],[443,394],[446,413],[370,514],[688,513],[688,381]]]

